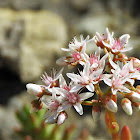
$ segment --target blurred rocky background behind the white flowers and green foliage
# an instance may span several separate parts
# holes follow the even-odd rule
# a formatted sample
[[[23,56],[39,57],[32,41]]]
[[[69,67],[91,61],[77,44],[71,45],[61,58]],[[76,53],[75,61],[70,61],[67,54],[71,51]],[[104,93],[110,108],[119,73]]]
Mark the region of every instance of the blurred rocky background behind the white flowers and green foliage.
[[[44,71],[59,70],[55,61],[65,56],[60,48],[74,36],[93,37],[106,27],[116,37],[130,34],[129,46],[134,49],[128,55],[140,59],[139,0],[0,0],[0,140],[18,140],[13,136],[20,125],[15,111],[32,100],[26,83],[41,83]],[[140,139],[139,115],[128,116],[121,107],[117,113],[120,128],[128,124],[135,140]],[[96,140],[110,139],[104,112],[93,122],[91,108],[80,117],[72,111],[67,121],[71,120]]]

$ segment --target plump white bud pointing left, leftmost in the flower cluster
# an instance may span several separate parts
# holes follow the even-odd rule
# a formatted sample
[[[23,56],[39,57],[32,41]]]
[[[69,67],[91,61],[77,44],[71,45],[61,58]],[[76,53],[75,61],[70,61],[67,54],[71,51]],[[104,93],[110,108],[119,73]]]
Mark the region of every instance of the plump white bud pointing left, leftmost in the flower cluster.
[[[36,84],[29,83],[26,85],[26,88],[27,88],[27,92],[29,94],[33,94],[38,97],[42,97],[43,93],[45,92],[43,87],[41,87],[40,85],[36,85]]]

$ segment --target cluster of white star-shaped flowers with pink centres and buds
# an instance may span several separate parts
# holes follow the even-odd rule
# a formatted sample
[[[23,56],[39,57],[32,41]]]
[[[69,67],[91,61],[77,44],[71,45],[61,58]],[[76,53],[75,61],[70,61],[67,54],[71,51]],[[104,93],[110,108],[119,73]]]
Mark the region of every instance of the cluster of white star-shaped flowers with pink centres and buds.
[[[83,70],[79,73],[67,73],[71,80],[66,82],[62,72],[63,68],[56,74],[53,70],[51,76],[44,73],[41,77],[44,85],[27,84],[27,92],[38,96],[32,101],[34,109],[47,109],[44,116],[47,123],[61,125],[68,118],[67,109],[72,106],[82,115],[82,105],[93,106],[92,114],[96,120],[99,118],[101,109],[117,112],[117,95],[122,95],[122,108],[128,115],[132,115],[132,107],[140,110],[140,86],[134,87],[135,80],[140,80],[140,60],[134,57],[128,58],[124,52],[131,50],[127,47],[130,35],[122,35],[119,39],[110,33],[108,28],[105,34],[96,32],[95,36],[86,39],[80,36],[81,41],[74,37],[69,43],[69,56],[62,57],[56,61],[59,65],[67,65],[69,68],[80,64]],[[89,42],[96,44],[95,53],[88,55],[86,47]],[[95,43],[94,43],[95,42]],[[104,55],[101,57],[101,50]],[[106,84],[106,92],[100,89],[100,82]],[[87,89],[88,92],[83,92]],[[84,90],[85,91],[85,90]],[[86,99],[97,94],[97,99]],[[85,101],[86,100],[86,101]]]

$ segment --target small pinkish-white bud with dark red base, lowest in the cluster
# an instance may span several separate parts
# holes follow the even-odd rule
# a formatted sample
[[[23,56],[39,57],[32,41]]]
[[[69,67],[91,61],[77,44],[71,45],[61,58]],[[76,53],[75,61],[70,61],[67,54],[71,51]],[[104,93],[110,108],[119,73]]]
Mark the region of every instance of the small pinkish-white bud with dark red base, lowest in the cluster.
[[[65,111],[61,112],[57,117],[57,124],[61,125],[65,122],[65,120],[68,118],[68,115]]]

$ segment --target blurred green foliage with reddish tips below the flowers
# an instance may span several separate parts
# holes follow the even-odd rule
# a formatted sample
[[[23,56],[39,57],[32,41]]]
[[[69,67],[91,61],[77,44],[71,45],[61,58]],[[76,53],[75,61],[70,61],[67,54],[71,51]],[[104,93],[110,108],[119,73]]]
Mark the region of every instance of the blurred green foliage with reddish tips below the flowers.
[[[24,140],[93,140],[86,129],[78,129],[76,124],[67,123],[58,126],[57,124],[46,124],[42,119],[45,110],[30,113],[29,106],[25,105],[16,111],[16,117],[21,124],[21,128],[16,128],[15,132]]]

